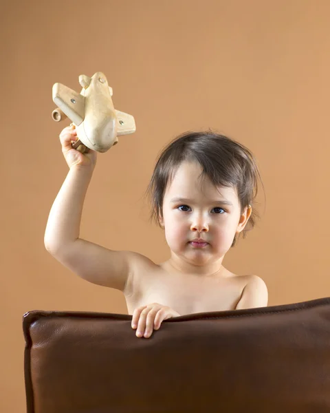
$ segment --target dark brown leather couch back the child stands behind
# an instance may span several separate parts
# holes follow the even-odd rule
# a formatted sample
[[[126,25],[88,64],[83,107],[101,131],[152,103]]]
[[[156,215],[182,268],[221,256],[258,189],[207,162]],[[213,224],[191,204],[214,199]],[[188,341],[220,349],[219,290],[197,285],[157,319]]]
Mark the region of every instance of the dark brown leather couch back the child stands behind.
[[[330,298],[164,321],[23,317],[28,413],[330,412]]]

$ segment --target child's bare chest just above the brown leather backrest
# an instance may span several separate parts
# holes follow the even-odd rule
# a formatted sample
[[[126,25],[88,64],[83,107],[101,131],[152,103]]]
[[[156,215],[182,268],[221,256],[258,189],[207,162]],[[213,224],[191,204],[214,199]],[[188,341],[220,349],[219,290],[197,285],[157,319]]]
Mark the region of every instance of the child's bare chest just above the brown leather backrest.
[[[129,314],[152,303],[173,308],[180,315],[234,310],[246,283],[246,277],[229,271],[225,277],[177,275],[155,264],[136,275],[135,293],[126,297],[126,304]]]

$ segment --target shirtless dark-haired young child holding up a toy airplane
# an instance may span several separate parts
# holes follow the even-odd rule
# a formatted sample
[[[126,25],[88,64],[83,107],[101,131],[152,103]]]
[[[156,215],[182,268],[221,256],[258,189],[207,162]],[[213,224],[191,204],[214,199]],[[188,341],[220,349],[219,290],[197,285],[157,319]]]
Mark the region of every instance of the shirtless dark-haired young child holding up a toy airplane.
[[[137,337],[151,337],[170,317],[267,306],[260,277],[235,275],[222,265],[248,222],[255,223],[259,170],[246,147],[206,131],[179,136],[162,151],[148,193],[170,257],[156,264],[79,237],[97,153],[72,149],[77,139],[74,126],[60,134],[69,173],[50,211],[45,247],[83,279],[122,291]]]

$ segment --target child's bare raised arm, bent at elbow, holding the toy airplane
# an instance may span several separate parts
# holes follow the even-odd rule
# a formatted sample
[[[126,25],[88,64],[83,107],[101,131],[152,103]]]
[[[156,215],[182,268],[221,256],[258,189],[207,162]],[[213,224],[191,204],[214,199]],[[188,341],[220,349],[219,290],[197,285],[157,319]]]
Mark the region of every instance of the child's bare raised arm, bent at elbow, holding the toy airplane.
[[[56,260],[94,284],[126,291],[132,266],[140,254],[111,251],[82,240],[80,221],[85,195],[96,165],[96,151],[80,153],[72,148],[77,140],[74,127],[60,134],[69,173],[54,200],[45,230],[45,248]]]

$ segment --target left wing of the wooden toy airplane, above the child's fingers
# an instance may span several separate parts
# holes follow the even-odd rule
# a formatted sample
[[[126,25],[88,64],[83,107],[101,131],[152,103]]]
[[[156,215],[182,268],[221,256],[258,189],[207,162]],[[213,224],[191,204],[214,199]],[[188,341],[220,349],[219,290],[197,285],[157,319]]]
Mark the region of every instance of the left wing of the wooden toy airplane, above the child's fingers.
[[[83,122],[85,116],[85,97],[83,95],[61,83],[55,83],[53,101],[77,126]]]

